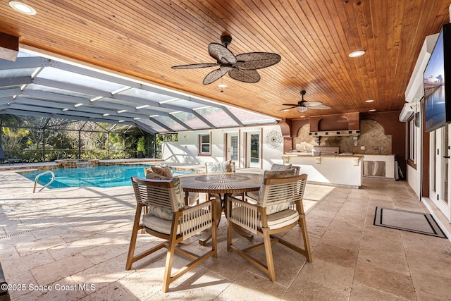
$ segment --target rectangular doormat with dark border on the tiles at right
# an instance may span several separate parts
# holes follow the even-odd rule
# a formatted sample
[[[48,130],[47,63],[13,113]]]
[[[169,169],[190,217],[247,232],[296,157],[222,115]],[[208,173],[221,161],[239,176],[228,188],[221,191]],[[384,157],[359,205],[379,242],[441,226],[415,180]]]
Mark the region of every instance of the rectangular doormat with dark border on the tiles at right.
[[[373,225],[446,238],[431,214],[376,207]]]

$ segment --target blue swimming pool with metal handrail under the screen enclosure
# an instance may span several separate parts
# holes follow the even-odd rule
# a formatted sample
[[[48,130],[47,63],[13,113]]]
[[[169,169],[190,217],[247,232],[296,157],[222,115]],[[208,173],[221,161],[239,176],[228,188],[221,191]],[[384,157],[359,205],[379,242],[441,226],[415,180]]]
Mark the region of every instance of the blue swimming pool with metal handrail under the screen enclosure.
[[[144,178],[144,167],[149,165],[113,165],[113,166],[93,166],[82,168],[57,168],[52,169],[55,180],[47,188],[69,188],[69,187],[98,187],[111,188],[121,186],[131,186],[130,177],[139,176]],[[39,173],[20,173],[25,178],[35,181]],[[173,170],[174,176],[181,176],[194,171]],[[51,180],[51,174],[47,173],[39,177],[37,183],[46,185]]]

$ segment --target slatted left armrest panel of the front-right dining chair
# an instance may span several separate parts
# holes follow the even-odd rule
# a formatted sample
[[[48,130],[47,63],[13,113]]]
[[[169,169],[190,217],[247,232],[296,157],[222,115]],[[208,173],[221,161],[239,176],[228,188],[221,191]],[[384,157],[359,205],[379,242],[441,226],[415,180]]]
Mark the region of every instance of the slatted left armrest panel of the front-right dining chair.
[[[257,233],[260,213],[256,204],[243,202],[235,197],[227,197],[228,222],[235,223],[247,231]]]

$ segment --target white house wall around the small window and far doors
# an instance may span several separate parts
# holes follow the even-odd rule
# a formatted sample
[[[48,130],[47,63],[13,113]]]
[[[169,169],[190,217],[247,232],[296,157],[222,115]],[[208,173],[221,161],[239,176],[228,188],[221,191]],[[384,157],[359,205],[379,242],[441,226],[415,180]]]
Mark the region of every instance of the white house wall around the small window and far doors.
[[[263,132],[261,140],[262,167],[270,169],[274,163],[283,164],[281,155],[283,154],[283,140],[279,147],[272,148],[266,144],[266,136],[271,131],[280,133],[279,125],[265,125],[252,128],[227,128],[216,130],[193,130],[178,134],[178,142],[163,142],[162,158],[164,161],[183,164],[204,164],[205,162],[225,161],[226,133],[240,133],[240,164],[243,167],[245,161],[245,135],[249,131]],[[211,132],[211,156],[198,155],[198,135]]]

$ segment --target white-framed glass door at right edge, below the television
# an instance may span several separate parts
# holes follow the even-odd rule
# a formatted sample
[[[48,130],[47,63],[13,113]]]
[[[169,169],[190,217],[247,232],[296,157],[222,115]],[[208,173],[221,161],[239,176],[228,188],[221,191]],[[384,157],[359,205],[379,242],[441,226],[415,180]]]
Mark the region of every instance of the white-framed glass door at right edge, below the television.
[[[450,125],[431,133],[431,191],[430,198],[451,221],[450,207]]]

